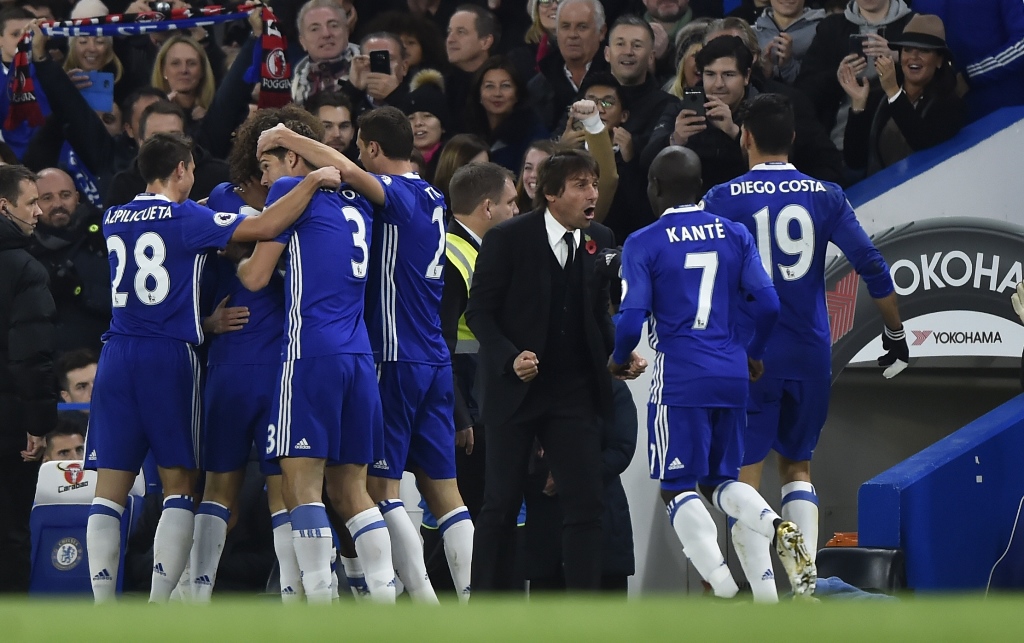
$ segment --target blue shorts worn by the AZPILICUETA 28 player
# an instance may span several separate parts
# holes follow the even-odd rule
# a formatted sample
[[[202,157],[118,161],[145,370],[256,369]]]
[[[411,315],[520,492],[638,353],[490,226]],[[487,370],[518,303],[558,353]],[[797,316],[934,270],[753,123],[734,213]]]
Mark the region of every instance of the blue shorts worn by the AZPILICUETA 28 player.
[[[174,339],[112,337],[99,353],[85,444],[88,469],[199,468],[200,362]]]

